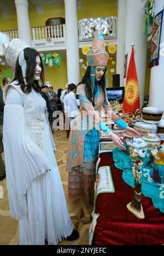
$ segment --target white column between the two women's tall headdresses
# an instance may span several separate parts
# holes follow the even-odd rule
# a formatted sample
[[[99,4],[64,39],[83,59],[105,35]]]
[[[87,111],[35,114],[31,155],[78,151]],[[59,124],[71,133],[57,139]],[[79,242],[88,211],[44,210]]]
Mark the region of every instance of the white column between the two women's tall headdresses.
[[[80,82],[77,0],[65,0],[68,83]]]

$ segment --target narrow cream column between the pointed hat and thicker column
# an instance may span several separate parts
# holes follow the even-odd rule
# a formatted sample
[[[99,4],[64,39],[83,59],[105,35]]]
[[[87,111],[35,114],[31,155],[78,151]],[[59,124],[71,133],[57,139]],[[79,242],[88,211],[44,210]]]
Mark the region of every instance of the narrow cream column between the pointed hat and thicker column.
[[[126,4],[127,4],[127,0],[124,0],[124,1],[119,0],[119,2],[118,2],[116,73],[120,74],[120,86],[124,86]]]

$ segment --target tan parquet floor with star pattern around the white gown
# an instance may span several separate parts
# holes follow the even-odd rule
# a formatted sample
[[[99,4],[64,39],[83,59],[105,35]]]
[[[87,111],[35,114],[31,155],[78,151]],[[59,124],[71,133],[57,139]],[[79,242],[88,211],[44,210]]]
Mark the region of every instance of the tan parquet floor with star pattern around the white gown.
[[[66,240],[58,244],[89,244],[89,215],[93,206],[87,205],[84,201],[69,202],[67,197],[68,174],[66,172],[68,139],[65,131],[55,131],[54,135],[57,152],[55,153],[58,168],[61,174],[63,189],[65,191],[68,212],[76,230],[79,231],[79,239],[73,242]],[[3,189],[3,198],[2,198]],[[7,197],[6,179],[0,181],[0,245],[19,244],[19,223],[10,217],[9,203]]]

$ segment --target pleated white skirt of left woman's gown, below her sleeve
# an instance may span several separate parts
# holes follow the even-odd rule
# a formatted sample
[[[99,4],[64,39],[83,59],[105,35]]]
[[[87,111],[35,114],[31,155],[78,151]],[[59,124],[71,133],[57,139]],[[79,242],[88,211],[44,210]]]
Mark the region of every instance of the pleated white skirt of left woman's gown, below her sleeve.
[[[52,149],[49,126],[44,122],[45,152],[53,168],[34,180],[27,189],[28,212],[19,219],[20,244],[57,244],[71,235],[72,221],[68,214],[65,193]]]

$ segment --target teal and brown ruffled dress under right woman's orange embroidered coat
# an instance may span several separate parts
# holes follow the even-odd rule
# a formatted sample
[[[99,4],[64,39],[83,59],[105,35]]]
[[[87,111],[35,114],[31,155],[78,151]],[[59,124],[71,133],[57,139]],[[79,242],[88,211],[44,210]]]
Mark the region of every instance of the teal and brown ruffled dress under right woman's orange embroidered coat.
[[[95,97],[100,93],[99,86]],[[79,97],[80,99],[80,97]],[[81,100],[88,101],[85,95]],[[95,166],[98,158],[99,132],[92,127],[85,135],[84,140],[84,163],[81,166],[72,167],[68,179],[69,200],[77,201],[84,199],[93,203],[95,186]]]

